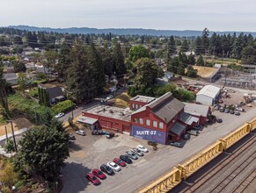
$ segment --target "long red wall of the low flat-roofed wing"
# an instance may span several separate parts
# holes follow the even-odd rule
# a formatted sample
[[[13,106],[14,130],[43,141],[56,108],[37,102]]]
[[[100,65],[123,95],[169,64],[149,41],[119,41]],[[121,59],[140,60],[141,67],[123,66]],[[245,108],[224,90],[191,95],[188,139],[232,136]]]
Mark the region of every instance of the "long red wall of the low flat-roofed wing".
[[[82,115],[88,118],[96,118],[99,120],[99,127],[113,132],[131,132],[130,121],[125,121],[115,118],[106,118],[99,115],[94,115],[88,112],[82,112]]]

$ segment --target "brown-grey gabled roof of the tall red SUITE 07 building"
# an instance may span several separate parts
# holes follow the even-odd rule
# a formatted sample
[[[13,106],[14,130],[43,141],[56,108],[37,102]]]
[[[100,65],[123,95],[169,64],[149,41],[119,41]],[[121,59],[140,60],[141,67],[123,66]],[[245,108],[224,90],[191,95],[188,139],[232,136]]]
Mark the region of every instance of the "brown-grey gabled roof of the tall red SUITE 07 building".
[[[157,117],[164,120],[165,123],[169,123],[184,106],[185,104],[172,96],[171,92],[166,93],[164,96],[157,98],[156,101],[149,104],[149,107]]]

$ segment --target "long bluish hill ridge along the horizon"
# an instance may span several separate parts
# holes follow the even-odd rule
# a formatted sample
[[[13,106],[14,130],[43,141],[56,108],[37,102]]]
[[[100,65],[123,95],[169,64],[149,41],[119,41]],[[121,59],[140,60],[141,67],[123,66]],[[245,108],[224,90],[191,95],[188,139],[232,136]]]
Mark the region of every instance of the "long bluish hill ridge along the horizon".
[[[11,25],[9,27],[19,29],[19,30],[27,30],[32,32],[37,31],[45,31],[45,32],[61,32],[61,33],[113,33],[117,35],[152,35],[152,36],[200,36],[202,31],[194,31],[194,30],[153,30],[153,29],[140,29],[140,28],[109,28],[109,29],[97,29],[97,28],[89,28],[89,27],[70,27],[70,28],[50,28],[50,27],[35,27],[35,26],[27,26],[27,25]],[[213,32],[209,32],[211,35]],[[217,34],[233,34],[234,32],[216,32]],[[240,32],[237,32],[237,34]],[[252,34],[254,38],[256,38],[256,32],[244,32],[245,34]]]

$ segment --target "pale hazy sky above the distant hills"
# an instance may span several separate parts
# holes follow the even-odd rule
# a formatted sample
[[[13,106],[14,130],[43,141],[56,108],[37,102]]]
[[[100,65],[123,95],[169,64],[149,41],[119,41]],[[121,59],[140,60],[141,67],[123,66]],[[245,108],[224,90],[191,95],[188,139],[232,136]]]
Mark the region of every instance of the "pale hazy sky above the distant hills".
[[[0,0],[0,26],[256,32],[256,0]]]

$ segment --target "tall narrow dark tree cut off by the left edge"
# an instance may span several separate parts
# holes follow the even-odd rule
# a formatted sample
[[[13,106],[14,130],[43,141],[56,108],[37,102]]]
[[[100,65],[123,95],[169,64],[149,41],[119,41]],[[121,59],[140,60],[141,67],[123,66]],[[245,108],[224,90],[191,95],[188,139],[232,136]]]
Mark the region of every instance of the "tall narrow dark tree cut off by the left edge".
[[[4,68],[0,65],[0,104],[4,108],[6,117],[10,118],[9,105],[6,94],[6,80],[4,79]]]

